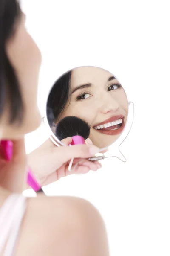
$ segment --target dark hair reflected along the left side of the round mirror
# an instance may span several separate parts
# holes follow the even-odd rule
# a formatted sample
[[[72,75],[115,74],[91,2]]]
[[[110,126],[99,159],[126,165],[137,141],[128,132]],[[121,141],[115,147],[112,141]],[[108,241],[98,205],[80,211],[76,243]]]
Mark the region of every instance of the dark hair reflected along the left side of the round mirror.
[[[47,119],[50,126],[55,126],[69,99],[71,99],[71,70],[57,79],[49,93]]]

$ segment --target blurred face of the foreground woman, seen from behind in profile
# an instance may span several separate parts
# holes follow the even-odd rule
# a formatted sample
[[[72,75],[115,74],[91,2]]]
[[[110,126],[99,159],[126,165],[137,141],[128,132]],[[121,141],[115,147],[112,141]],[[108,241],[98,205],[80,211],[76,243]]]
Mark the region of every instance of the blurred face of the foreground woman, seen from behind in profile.
[[[15,24],[14,35],[6,44],[6,54],[15,70],[20,85],[24,104],[24,119],[20,127],[8,125],[9,107],[6,103],[1,118],[2,137],[15,139],[38,128],[41,122],[40,112],[37,107],[37,86],[41,64],[41,54],[37,45],[28,34],[26,16],[22,13]]]

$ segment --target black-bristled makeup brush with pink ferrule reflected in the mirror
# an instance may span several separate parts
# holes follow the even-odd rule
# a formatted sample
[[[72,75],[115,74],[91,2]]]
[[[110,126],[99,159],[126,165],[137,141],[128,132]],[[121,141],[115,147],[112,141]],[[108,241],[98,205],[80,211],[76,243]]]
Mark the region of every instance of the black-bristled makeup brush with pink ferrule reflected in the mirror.
[[[77,116],[66,116],[58,122],[55,135],[59,140],[72,137],[71,145],[85,144],[90,135],[90,126]]]

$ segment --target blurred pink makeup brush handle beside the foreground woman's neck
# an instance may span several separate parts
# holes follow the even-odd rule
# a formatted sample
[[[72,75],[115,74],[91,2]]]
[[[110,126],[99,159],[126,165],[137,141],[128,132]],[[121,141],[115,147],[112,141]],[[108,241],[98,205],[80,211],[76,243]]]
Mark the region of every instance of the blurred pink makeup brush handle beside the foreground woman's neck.
[[[5,160],[10,161],[13,154],[13,143],[11,140],[1,140],[0,141],[0,155]],[[28,176],[27,176],[27,184],[31,186],[34,191],[38,191],[41,189],[40,184],[37,182],[36,178],[31,172],[31,169],[28,167]]]

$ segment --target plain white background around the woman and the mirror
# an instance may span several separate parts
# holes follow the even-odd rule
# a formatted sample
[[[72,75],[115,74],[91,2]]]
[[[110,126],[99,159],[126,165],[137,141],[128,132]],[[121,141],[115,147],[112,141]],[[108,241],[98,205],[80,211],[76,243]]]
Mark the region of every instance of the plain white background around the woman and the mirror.
[[[111,255],[170,255],[170,15],[168,1],[24,0],[28,31],[42,52],[38,102],[66,70],[96,65],[122,82],[135,105],[121,146],[126,163],[111,159],[87,175],[45,188],[48,195],[91,201],[108,230]],[[27,152],[48,135],[26,137]],[[31,195],[31,194],[30,194]]]

